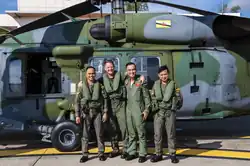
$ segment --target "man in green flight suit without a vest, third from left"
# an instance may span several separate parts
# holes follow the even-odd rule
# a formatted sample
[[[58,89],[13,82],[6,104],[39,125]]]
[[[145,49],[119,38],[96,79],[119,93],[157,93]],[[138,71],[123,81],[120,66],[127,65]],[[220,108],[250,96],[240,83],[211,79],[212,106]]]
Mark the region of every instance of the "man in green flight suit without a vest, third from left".
[[[127,126],[129,132],[128,156],[126,160],[136,158],[137,141],[139,138],[139,163],[146,161],[147,156],[147,140],[145,120],[148,117],[151,106],[149,90],[146,83],[141,83],[136,74],[136,65],[132,62],[126,64],[127,75],[129,78],[125,80],[127,88]]]

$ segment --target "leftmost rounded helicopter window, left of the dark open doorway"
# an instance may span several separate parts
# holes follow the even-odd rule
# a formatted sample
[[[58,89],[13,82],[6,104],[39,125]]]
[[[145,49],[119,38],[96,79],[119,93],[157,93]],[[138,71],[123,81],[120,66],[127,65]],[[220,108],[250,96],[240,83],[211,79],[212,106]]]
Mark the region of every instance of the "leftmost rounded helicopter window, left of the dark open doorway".
[[[20,93],[22,88],[22,61],[13,59],[9,63],[9,91]]]

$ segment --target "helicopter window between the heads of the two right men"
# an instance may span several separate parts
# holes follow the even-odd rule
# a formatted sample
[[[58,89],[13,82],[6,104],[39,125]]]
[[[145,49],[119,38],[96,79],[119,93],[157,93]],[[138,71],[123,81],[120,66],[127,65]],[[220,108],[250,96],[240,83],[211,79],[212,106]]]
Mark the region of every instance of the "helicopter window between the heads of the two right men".
[[[158,57],[137,56],[132,57],[131,62],[136,64],[137,73],[144,75],[148,87],[152,88],[154,81],[158,79],[156,73],[160,66],[160,59]]]

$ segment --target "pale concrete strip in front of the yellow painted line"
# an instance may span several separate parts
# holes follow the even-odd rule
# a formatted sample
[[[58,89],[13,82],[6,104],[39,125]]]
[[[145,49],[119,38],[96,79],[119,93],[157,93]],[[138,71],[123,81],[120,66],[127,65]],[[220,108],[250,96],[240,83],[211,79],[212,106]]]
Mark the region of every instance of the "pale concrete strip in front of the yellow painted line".
[[[5,158],[0,160],[0,166],[163,166],[173,165],[169,160],[164,160],[158,163],[151,163],[146,161],[145,163],[138,163],[137,160],[124,161],[119,157],[113,159],[107,159],[106,161],[99,161],[98,159],[92,159],[86,163],[79,163],[79,155],[74,156],[43,156],[43,157],[22,157],[22,158]],[[228,159],[208,159],[208,158],[181,158],[178,166],[249,166],[250,161],[241,160],[228,160]]]

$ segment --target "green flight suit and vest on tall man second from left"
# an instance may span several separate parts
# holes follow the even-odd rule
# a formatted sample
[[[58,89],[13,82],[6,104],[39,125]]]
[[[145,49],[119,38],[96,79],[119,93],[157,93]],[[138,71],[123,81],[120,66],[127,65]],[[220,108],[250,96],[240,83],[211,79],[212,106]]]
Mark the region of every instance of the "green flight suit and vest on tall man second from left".
[[[109,97],[109,124],[112,149],[119,152],[118,136],[122,135],[123,155],[127,152],[128,131],[126,125],[126,87],[124,86],[124,76],[120,72],[115,73],[114,79],[106,74],[100,79]],[[112,157],[112,156],[111,156]],[[125,156],[122,156],[124,158]]]

